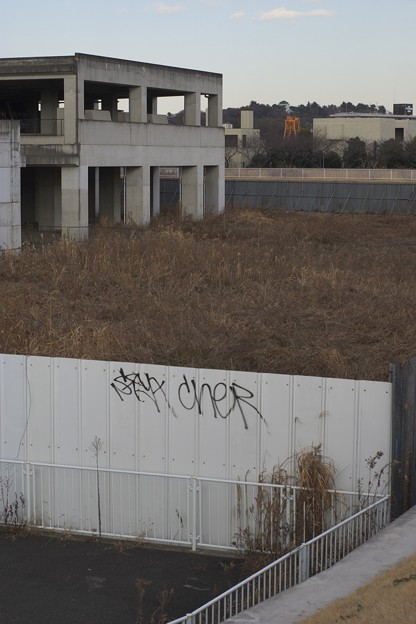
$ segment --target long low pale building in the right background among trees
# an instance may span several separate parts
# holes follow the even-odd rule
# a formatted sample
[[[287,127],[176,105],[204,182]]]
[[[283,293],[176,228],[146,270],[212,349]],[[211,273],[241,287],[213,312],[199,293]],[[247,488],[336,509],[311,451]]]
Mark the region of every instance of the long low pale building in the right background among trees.
[[[416,117],[343,113],[314,119],[313,133],[334,142],[355,137],[368,143],[381,143],[388,139],[409,141],[416,136]]]

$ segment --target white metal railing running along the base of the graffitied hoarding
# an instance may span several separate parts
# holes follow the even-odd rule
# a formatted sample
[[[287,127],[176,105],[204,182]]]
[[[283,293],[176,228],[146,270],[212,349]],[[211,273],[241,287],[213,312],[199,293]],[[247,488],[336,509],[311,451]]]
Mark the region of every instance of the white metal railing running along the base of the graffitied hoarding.
[[[330,491],[325,512],[305,523],[305,491],[296,486],[0,460],[2,523],[193,550],[238,550],[248,540],[285,550],[378,498]]]

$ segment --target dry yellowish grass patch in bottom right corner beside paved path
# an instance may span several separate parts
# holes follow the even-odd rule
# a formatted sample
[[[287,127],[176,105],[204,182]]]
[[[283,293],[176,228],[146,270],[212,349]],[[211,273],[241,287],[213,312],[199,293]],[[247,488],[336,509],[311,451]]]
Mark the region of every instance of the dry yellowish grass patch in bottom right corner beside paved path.
[[[350,596],[337,600],[302,624],[412,624],[416,621],[416,556],[379,574]]]

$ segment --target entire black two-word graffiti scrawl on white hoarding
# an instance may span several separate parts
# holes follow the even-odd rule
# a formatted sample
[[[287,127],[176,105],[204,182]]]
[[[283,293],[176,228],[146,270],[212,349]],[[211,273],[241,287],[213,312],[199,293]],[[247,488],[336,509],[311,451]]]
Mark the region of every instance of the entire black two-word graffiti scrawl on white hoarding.
[[[134,396],[141,403],[151,402],[158,412],[164,403],[175,417],[178,416],[169,403],[164,379],[157,379],[148,373],[126,374],[120,368],[119,375],[113,379],[111,387],[122,401],[125,397]],[[244,429],[248,429],[250,416],[254,415],[264,421],[256,406],[254,393],[235,381],[230,384],[221,381],[215,385],[209,383],[198,385],[194,377],[184,374],[174,392],[184,410],[196,409],[199,415],[211,414],[214,418],[227,419],[236,412],[243,421]]]

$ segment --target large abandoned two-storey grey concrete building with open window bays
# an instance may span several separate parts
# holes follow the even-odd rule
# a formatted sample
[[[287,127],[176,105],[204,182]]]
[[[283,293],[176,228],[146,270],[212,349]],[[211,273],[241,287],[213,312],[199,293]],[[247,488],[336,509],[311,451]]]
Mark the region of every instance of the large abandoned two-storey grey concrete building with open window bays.
[[[183,97],[183,126],[158,113],[169,96]],[[147,224],[160,210],[160,167],[180,168],[183,215],[224,208],[220,74],[87,54],[0,59],[1,119],[20,122],[22,224],[74,238],[100,218]]]

